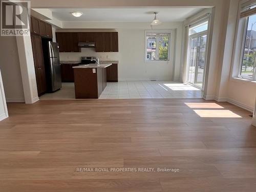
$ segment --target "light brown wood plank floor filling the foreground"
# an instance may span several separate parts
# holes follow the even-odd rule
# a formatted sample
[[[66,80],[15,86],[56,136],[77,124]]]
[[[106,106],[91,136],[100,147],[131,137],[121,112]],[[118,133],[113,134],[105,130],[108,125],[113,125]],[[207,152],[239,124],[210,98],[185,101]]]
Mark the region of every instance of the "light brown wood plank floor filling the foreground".
[[[254,191],[249,112],[203,99],[9,103],[0,191]],[[77,172],[77,167],[179,172]]]

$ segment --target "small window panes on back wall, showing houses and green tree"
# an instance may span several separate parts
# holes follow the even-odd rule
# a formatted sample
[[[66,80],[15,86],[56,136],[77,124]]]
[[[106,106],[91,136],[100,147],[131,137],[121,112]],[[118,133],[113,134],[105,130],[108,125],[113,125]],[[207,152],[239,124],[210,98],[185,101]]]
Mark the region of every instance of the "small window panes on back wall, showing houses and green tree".
[[[170,33],[146,33],[146,61],[169,60]]]

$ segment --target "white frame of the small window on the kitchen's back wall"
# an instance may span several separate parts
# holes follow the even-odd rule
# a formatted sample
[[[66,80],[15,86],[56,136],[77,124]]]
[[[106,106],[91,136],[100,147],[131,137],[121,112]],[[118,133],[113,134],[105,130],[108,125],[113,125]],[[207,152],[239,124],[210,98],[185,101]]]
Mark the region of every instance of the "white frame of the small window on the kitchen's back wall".
[[[167,60],[148,60],[147,59],[147,34],[150,33],[166,33],[169,34],[168,37],[168,59]],[[170,58],[172,57],[171,55],[171,50],[173,49],[173,30],[145,30],[145,35],[144,35],[144,62],[152,63],[152,62],[169,62]],[[159,52],[159,41],[156,39],[156,54]]]

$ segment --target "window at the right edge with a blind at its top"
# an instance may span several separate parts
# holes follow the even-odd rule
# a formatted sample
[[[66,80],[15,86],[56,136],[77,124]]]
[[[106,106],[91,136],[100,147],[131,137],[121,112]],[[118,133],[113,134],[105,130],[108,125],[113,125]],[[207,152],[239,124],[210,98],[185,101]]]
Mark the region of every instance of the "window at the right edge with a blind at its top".
[[[241,20],[244,20],[244,40],[239,66],[239,77],[256,80],[256,7],[255,2],[242,8]]]

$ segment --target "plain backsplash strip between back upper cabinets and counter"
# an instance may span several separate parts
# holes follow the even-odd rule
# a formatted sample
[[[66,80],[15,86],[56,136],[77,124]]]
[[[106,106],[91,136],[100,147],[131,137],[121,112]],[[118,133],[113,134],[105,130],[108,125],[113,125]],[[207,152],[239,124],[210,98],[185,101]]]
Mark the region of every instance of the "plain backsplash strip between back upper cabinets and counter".
[[[77,61],[83,56],[95,56],[100,60],[119,60],[119,53],[98,53],[94,48],[81,48],[80,53],[59,53],[61,61]]]

